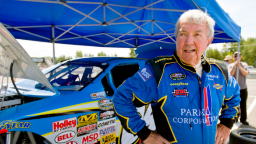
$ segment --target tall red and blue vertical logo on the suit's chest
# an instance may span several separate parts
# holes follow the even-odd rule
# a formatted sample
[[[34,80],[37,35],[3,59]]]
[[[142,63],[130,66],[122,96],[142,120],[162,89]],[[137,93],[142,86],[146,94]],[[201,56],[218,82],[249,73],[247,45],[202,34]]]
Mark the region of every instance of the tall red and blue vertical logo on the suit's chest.
[[[211,120],[212,114],[211,114],[211,109],[212,109],[212,101],[211,101],[211,90],[210,90],[210,85],[208,84],[207,87],[203,88],[203,93],[204,93],[204,103],[205,103],[205,119],[206,119],[206,125],[211,126],[213,125],[213,122]]]

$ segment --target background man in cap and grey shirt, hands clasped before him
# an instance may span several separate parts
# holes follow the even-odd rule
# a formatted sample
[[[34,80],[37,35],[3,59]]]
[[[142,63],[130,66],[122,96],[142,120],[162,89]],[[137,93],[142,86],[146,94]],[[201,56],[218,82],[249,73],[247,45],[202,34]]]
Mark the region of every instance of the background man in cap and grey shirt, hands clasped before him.
[[[246,62],[241,62],[242,55],[239,52],[239,59],[237,58],[238,52],[234,53],[234,62],[228,65],[228,72],[230,72],[231,76],[233,76],[236,79],[237,75],[237,68],[239,69],[239,79],[237,80],[241,90],[240,90],[240,108],[241,108],[241,117],[240,122],[244,125],[249,125],[249,123],[246,121],[247,119],[247,112],[246,112],[246,100],[248,96],[247,92],[247,86],[246,86],[246,76],[249,73],[248,70],[248,64]]]

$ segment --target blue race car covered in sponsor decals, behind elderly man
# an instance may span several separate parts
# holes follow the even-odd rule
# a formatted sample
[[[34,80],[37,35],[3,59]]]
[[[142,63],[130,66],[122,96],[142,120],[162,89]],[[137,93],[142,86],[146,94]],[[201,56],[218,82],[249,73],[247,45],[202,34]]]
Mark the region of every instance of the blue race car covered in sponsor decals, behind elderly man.
[[[143,59],[118,57],[61,62],[42,71],[57,94],[42,83],[24,79],[15,83],[24,100],[9,84],[4,101],[9,105],[4,105],[0,111],[3,132],[0,141],[17,144],[141,143],[137,136],[122,128],[111,99],[118,86],[144,65]],[[151,107],[147,105],[137,110],[154,130]]]

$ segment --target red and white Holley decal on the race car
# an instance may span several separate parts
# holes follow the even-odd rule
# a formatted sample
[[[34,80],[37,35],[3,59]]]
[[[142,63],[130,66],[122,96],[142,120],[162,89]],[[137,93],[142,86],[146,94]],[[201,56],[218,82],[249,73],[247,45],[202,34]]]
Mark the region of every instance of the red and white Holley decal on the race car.
[[[53,122],[53,133],[62,132],[64,130],[77,127],[77,118],[64,119],[57,122]]]

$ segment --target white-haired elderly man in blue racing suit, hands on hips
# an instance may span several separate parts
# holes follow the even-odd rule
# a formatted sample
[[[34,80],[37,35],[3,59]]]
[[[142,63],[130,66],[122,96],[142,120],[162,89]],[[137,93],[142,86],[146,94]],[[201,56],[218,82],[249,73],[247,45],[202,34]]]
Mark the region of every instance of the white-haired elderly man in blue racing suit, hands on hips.
[[[149,60],[115,91],[114,108],[127,132],[145,144],[225,144],[239,113],[240,88],[223,61],[202,55],[213,41],[214,24],[200,10],[182,14],[173,56]],[[147,104],[156,131],[136,112]]]

